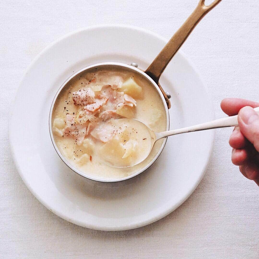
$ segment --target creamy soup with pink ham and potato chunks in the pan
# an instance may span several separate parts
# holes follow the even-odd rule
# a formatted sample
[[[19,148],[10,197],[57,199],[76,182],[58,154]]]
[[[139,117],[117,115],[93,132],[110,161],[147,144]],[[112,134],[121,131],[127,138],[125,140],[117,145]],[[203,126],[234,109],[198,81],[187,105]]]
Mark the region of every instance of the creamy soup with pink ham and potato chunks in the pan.
[[[146,78],[122,68],[93,68],[80,73],[62,89],[55,101],[52,132],[57,148],[85,175],[116,179],[135,174],[154,159],[163,140],[155,143],[147,159],[140,164],[127,168],[108,165],[104,160],[109,160],[111,150],[118,153],[118,161],[123,166],[150,148],[145,142],[144,129],[135,135],[130,133],[134,138],[126,138],[125,128],[120,129],[124,137],[118,138],[111,127],[120,118],[138,119],[154,132],[166,130],[163,102]]]

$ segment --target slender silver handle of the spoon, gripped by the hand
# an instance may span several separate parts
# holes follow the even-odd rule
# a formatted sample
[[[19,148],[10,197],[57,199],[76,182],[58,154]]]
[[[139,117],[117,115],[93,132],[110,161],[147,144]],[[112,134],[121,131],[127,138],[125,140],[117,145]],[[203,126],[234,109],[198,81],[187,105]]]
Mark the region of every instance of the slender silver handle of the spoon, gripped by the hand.
[[[254,110],[259,114],[259,107],[254,108]],[[164,131],[164,132],[159,132],[155,134],[156,134],[156,140],[159,140],[171,135],[176,135],[176,134],[181,134],[186,132],[210,130],[215,128],[225,128],[225,127],[234,127],[234,126],[238,126],[238,115],[229,116],[218,120],[213,120],[213,121],[205,122],[202,124],[198,124],[198,125],[194,125],[186,128]]]

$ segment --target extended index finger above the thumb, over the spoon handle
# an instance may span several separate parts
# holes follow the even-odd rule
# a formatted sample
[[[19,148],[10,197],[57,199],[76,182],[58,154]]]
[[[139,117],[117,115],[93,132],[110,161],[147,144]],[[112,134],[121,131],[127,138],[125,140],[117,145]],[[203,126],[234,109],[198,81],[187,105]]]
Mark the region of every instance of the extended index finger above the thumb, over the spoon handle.
[[[220,103],[222,111],[224,111],[228,116],[238,114],[239,110],[244,106],[255,108],[259,107],[259,103],[241,98],[225,98]]]

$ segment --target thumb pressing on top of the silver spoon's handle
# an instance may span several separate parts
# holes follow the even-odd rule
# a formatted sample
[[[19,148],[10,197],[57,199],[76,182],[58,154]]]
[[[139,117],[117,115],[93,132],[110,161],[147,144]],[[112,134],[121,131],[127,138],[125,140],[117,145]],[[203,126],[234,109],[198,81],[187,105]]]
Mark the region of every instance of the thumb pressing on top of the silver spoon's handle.
[[[240,131],[259,152],[259,115],[252,107],[245,106],[238,113],[238,124]]]

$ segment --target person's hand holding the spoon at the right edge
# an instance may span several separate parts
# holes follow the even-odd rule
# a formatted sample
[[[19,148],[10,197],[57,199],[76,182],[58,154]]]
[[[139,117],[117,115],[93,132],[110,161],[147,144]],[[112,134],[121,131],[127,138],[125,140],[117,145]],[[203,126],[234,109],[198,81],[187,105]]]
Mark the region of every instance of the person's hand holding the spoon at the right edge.
[[[229,116],[238,114],[239,126],[234,128],[229,139],[229,145],[233,148],[232,163],[239,166],[246,178],[259,186],[259,115],[253,110],[259,107],[259,103],[225,98],[220,106]]]

